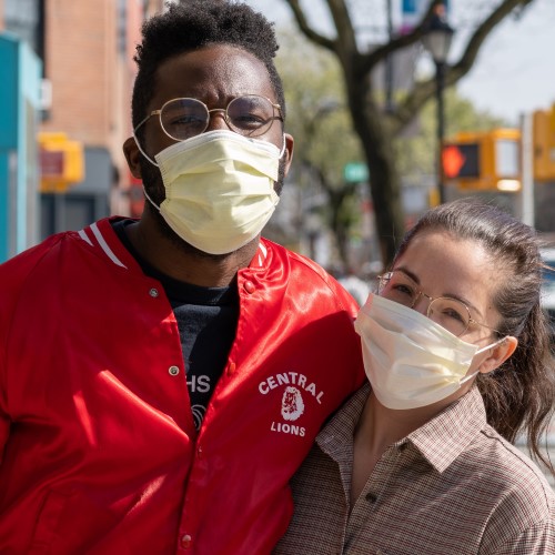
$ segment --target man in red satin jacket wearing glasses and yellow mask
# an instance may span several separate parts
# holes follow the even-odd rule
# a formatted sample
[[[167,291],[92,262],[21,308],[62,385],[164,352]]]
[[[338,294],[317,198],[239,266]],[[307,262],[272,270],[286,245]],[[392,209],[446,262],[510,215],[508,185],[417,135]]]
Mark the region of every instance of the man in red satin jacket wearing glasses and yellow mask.
[[[293,152],[276,48],[244,4],[151,19],[124,143],[142,218],[0,266],[0,553],[261,554],[285,532],[287,482],[364,374],[353,300],[260,238]]]

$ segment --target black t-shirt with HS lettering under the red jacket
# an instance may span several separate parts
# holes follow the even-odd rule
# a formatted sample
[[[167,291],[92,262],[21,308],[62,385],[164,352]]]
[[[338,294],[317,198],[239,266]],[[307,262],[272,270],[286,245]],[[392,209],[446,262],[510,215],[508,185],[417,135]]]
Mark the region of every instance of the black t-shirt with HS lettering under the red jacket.
[[[234,283],[228,287],[200,287],[159,272],[133,249],[124,231],[130,223],[133,220],[119,220],[112,226],[142,271],[162,283],[170,300],[178,321],[194,424],[199,430],[235,337],[238,289]]]

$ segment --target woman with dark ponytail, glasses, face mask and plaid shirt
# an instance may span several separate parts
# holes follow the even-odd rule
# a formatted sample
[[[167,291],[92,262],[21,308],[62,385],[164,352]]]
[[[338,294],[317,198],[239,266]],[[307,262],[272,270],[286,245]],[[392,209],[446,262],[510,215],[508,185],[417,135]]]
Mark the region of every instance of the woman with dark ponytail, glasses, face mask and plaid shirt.
[[[555,370],[533,230],[466,201],[426,213],[355,322],[365,384],[292,483],[287,554],[555,553],[539,437]]]

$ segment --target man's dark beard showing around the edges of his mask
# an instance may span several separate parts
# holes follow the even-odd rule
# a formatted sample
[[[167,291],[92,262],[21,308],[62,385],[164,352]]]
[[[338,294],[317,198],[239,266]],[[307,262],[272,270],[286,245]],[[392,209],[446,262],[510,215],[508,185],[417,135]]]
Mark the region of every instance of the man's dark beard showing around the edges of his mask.
[[[140,159],[141,167],[141,176],[144,189],[152,201],[160,206],[165,199],[165,188],[162,181],[162,174],[160,170],[150,163],[144,157]],[[285,179],[285,159],[280,160],[280,165],[278,169],[278,181],[274,183],[274,190],[278,196],[281,196],[281,192],[283,190],[283,182]],[[154,208],[148,199],[144,200],[144,210],[148,210],[152,215],[154,222],[160,230],[160,233],[171,241],[172,245],[179,249],[181,252],[186,254],[193,254],[198,258],[203,259],[212,259],[212,260],[222,260],[225,259],[231,253],[225,254],[211,254],[204,251],[201,251],[193,246],[191,243],[188,243],[185,240],[181,239],[171,228],[168,225],[167,221],[160,214],[159,210]],[[233,251],[232,251],[233,252]]]

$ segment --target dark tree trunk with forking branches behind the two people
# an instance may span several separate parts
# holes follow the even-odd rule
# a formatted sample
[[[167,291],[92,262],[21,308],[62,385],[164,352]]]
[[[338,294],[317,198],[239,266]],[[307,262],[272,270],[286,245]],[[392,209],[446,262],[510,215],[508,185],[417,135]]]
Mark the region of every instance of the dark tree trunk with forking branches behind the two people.
[[[462,79],[475,63],[478,52],[488,34],[504,19],[525,10],[535,0],[500,0],[477,24],[466,43],[458,61],[450,65],[445,74],[445,85],[451,87]],[[395,248],[404,234],[401,206],[400,179],[393,154],[395,137],[435,92],[434,80],[415,83],[403,102],[395,107],[394,113],[377,109],[377,99],[372,97],[370,75],[379,63],[385,62],[392,53],[415,44],[430,29],[430,22],[444,0],[428,0],[427,9],[420,23],[410,33],[392,38],[370,53],[361,53],[356,44],[356,31],[351,20],[346,0],[326,0],[332,16],[336,37],[330,38],[311,27],[300,0],[286,0],[304,36],[333,52],[340,62],[345,78],[349,108],[353,125],[361,138],[370,171],[370,193],[374,203],[376,232],[382,252],[382,261],[389,265]],[[516,13],[519,13],[516,11]]]

